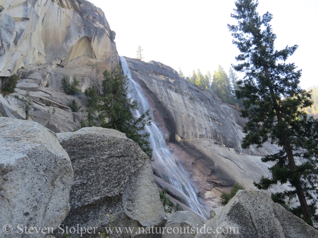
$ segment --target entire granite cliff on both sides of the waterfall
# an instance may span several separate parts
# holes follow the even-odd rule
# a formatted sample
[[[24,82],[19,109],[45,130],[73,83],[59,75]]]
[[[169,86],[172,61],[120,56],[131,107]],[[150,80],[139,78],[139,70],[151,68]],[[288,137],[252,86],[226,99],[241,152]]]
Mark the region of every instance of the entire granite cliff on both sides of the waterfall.
[[[86,0],[0,0],[0,4],[4,6],[0,13],[0,85],[12,74],[20,77],[15,93],[0,94],[0,116],[25,119],[22,99],[29,91],[29,120],[56,133],[79,129],[83,113],[72,112],[70,101],[75,99],[85,109],[88,103],[83,91],[94,85],[100,92],[102,72],[120,63],[115,33],[104,13]],[[269,164],[260,158],[276,148],[266,144],[261,149],[243,150],[244,120],[235,108],[160,62],[126,60],[174,163],[183,166],[206,211],[220,206],[221,192],[229,191],[235,182],[253,188],[253,181],[268,175]],[[79,79],[80,93],[66,95],[63,77],[70,83]],[[182,203],[156,158],[152,167],[158,186],[168,187],[171,199]]]

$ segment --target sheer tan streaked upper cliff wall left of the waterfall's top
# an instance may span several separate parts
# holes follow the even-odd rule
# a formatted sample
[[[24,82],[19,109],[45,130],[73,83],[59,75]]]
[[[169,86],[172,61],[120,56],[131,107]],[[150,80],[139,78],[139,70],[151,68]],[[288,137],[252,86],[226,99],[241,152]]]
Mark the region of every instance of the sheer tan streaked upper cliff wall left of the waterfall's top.
[[[110,69],[117,57],[104,13],[88,1],[5,0],[1,4],[0,76],[10,76],[29,64],[66,66],[79,57],[94,60],[92,64],[103,62]]]

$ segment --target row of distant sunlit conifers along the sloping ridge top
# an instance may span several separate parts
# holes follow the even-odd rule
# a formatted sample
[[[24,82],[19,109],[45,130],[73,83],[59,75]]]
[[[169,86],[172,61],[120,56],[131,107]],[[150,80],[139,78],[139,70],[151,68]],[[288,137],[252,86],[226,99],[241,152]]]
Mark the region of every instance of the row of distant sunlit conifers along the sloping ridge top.
[[[234,93],[237,89],[238,76],[232,67],[230,67],[229,75],[219,65],[218,70],[214,71],[213,76],[210,71],[203,75],[201,70],[198,69],[197,72],[193,70],[192,75],[187,77],[183,75],[181,68],[179,68],[179,76],[193,85],[213,92],[224,103],[235,106],[241,105],[241,102],[236,99]]]

